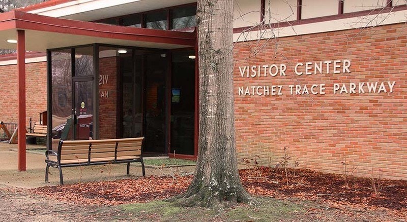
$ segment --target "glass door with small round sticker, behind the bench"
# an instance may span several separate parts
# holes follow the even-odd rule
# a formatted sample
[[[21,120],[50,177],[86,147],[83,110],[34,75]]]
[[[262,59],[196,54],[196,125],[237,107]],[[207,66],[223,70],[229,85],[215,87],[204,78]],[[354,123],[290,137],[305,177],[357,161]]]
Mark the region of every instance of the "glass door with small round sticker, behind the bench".
[[[74,81],[73,138],[93,137],[93,81]]]

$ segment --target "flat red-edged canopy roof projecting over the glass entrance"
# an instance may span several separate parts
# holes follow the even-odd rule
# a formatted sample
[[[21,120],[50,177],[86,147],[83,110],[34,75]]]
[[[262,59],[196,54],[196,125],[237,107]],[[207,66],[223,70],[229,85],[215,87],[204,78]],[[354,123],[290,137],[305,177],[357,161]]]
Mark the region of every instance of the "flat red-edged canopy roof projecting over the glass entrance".
[[[25,48],[30,51],[94,43],[177,49],[195,46],[196,41],[195,32],[107,25],[11,11],[0,14],[0,48],[15,49],[15,44],[6,40],[16,39],[16,30],[25,31]]]

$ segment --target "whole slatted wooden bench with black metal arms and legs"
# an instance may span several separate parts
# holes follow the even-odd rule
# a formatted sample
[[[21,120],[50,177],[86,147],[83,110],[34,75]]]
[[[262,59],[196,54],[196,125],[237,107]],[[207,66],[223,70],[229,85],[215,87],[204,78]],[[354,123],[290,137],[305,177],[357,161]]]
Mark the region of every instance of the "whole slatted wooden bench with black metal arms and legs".
[[[60,140],[58,151],[45,152],[45,182],[48,182],[49,167],[58,168],[60,181],[64,184],[63,167],[91,166],[101,164],[127,163],[127,175],[130,174],[130,163],[140,162],[142,175],[144,170],[141,147],[144,137],[125,139],[98,140]]]

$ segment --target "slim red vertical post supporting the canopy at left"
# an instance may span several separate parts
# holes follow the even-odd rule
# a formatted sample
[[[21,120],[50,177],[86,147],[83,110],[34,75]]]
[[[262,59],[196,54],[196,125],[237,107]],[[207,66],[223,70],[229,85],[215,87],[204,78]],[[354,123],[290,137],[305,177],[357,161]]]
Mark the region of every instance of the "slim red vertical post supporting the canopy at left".
[[[25,171],[25,32],[17,30],[18,171]]]

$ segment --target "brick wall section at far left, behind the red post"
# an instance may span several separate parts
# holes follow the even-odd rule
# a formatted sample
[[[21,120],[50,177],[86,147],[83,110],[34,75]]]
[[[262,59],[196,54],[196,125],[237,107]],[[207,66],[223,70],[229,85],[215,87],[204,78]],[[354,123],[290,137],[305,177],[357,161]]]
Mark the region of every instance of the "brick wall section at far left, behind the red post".
[[[39,121],[39,113],[47,110],[46,62],[27,63],[26,125],[30,117]],[[17,66],[0,66],[0,121],[17,123]],[[34,124],[34,123],[33,123]]]

